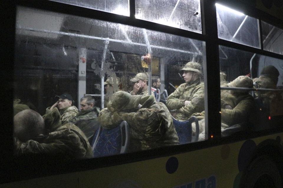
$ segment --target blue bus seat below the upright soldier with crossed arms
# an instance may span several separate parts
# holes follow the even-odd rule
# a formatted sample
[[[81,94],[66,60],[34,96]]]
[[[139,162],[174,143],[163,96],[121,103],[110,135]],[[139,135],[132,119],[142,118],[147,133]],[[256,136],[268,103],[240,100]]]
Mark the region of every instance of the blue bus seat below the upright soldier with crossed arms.
[[[179,137],[180,144],[187,144],[190,142],[197,142],[199,135],[199,125],[198,119],[195,116],[190,117],[187,121],[178,121],[174,117],[173,124],[175,125],[175,129],[177,135]],[[195,122],[196,133],[195,136],[192,136],[192,122]]]

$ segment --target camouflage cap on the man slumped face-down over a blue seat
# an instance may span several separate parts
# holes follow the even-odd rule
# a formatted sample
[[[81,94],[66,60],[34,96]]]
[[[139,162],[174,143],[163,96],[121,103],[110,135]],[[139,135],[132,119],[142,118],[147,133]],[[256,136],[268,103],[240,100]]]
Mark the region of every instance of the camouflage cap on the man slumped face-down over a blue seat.
[[[109,101],[107,108],[110,112],[119,112],[137,108],[142,95],[131,95],[125,91],[114,93],[112,100]]]

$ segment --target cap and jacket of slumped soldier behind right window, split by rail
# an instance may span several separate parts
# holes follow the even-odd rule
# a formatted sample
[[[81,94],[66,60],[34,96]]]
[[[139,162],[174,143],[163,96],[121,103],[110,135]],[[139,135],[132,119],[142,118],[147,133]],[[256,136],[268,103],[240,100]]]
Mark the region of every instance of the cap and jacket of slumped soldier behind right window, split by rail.
[[[252,88],[253,81],[248,76],[239,76],[228,87]],[[253,107],[254,98],[243,90],[231,90],[221,95],[221,122],[222,128],[228,128],[235,124],[248,122],[249,114]],[[227,108],[229,105],[231,108]],[[224,124],[223,124],[224,123]]]

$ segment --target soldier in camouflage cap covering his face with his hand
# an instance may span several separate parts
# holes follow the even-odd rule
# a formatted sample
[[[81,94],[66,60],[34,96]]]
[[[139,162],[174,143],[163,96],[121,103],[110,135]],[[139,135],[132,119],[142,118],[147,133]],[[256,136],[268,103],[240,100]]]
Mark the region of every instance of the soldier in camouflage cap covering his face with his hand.
[[[146,73],[137,73],[136,76],[131,79],[131,82],[134,83],[133,90],[130,92],[131,95],[142,95],[142,96],[148,95],[148,89],[147,89],[148,76]],[[154,93],[151,92],[151,95],[154,96]]]

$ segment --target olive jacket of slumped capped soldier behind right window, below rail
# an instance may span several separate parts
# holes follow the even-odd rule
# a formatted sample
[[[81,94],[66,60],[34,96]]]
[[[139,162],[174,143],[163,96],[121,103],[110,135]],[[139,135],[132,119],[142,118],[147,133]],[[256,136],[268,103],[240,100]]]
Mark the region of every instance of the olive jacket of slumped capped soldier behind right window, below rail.
[[[246,124],[249,114],[253,108],[254,98],[250,94],[238,93],[232,95],[229,92],[221,95],[221,122],[229,127],[235,124]],[[232,109],[224,109],[224,106],[230,105]]]

